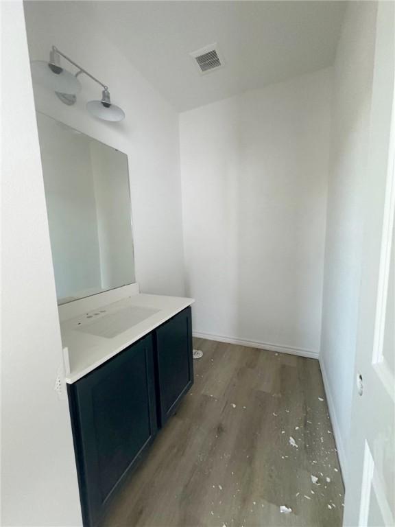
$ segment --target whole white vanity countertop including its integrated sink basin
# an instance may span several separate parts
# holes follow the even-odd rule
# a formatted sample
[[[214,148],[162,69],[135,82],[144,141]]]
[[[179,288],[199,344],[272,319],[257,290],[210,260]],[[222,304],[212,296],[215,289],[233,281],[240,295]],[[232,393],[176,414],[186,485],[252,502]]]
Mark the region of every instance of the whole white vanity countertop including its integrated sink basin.
[[[65,377],[72,384],[169,320],[193,298],[132,294],[61,320]]]

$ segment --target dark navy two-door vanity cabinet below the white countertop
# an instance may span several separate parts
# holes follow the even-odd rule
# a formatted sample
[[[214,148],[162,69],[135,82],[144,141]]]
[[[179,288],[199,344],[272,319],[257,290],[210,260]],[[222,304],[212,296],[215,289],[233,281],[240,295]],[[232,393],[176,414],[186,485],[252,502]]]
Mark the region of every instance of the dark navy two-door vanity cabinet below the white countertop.
[[[97,525],[192,384],[187,307],[68,385],[84,526]]]

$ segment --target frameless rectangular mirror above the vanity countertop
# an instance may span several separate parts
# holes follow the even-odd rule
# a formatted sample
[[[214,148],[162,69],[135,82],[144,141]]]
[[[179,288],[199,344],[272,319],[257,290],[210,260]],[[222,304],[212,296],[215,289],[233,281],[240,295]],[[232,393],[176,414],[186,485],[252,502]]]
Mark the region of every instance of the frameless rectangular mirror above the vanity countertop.
[[[135,281],[128,156],[37,113],[58,304]]]

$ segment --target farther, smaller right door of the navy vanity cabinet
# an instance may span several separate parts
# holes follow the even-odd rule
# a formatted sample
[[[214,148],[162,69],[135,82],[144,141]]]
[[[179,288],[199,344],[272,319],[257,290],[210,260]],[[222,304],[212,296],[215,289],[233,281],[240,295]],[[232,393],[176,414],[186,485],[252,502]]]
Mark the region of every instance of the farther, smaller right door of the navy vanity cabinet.
[[[193,384],[191,308],[156,329],[159,421],[163,425]]]

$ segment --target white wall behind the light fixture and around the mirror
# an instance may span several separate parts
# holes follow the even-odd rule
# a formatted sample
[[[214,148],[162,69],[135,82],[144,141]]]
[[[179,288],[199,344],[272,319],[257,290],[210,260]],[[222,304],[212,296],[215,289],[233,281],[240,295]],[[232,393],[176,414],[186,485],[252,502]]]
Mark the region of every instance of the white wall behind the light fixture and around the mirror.
[[[84,75],[75,106],[34,86],[38,110],[128,154],[136,280],[143,292],[184,294],[177,113],[99,31],[94,14],[85,15],[84,2],[27,1],[25,16],[32,60],[47,60],[56,45],[106,82],[125,110],[120,123],[91,117],[85,104],[101,90]]]

